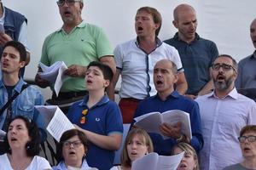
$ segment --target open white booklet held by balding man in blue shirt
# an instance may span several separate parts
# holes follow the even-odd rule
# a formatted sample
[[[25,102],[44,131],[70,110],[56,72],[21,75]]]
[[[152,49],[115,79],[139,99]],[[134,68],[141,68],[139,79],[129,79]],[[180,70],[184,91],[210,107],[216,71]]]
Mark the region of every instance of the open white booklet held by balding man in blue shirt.
[[[163,139],[168,139],[168,137],[160,133],[160,125],[162,123],[166,122],[172,126],[176,126],[177,122],[181,122],[181,133],[185,134],[188,139],[192,139],[189,113],[185,111],[151,112],[143,116],[138,116],[134,120],[136,121],[134,123],[135,126],[142,127],[148,133],[159,133]]]

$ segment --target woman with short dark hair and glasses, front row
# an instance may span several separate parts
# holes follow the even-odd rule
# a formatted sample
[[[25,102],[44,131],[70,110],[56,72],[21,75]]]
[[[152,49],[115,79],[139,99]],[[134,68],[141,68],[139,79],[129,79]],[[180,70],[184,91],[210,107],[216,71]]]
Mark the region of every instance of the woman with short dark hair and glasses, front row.
[[[78,129],[67,130],[57,144],[59,164],[52,167],[53,170],[67,170],[72,167],[83,170],[97,169],[89,167],[85,160],[87,148],[88,139],[83,132]]]

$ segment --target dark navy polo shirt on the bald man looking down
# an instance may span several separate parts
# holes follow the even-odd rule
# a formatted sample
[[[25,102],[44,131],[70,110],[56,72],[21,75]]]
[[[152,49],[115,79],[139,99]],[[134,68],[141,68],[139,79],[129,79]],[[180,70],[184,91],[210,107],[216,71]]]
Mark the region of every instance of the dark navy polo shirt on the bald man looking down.
[[[178,37],[178,33],[165,41],[177,48],[183,63],[184,73],[188,82],[186,94],[197,95],[207,82],[211,80],[209,69],[212,62],[218,57],[218,48],[210,40],[195,35],[195,40],[187,43]]]

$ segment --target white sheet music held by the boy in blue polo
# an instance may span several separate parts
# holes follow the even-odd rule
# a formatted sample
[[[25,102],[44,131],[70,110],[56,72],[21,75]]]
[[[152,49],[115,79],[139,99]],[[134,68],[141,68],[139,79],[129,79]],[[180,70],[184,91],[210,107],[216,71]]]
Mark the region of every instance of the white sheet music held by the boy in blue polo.
[[[57,105],[35,105],[45,117],[46,129],[58,142],[62,133],[75,128]]]

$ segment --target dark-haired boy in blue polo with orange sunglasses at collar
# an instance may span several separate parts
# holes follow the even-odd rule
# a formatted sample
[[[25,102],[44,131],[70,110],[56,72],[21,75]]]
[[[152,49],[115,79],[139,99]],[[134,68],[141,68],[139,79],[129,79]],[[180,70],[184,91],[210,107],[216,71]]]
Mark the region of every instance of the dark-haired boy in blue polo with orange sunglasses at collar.
[[[119,150],[122,141],[123,122],[119,106],[105,94],[112,78],[113,71],[108,65],[91,62],[85,74],[89,94],[74,103],[67,114],[90,141],[86,156],[88,165],[100,170],[113,167],[114,150]]]

